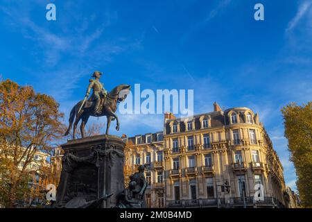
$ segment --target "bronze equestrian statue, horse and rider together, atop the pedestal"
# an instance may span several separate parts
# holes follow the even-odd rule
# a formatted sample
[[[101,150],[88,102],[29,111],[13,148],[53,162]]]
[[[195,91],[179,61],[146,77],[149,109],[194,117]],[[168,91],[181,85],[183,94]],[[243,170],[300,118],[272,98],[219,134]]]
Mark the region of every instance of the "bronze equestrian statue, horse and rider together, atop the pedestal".
[[[110,122],[116,119],[116,130],[119,130],[119,119],[115,112],[117,109],[117,103],[125,100],[127,94],[130,92],[130,85],[119,85],[114,87],[111,92],[104,89],[103,83],[100,82],[100,78],[103,74],[101,71],[94,71],[92,77],[94,79],[89,80],[89,86],[87,88],[87,93],[85,94],[85,99],[79,101],[71,109],[69,115],[69,127],[65,136],[69,135],[69,131],[73,126],[73,139],[75,138],[76,128],[81,120],[80,132],[81,137],[85,137],[85,125],[90,116],[92,117],[107,117],[106,135],[110,128]],[[91,90],[92,95],[89,97]],[[76,118],[76,119],[75,119]]]

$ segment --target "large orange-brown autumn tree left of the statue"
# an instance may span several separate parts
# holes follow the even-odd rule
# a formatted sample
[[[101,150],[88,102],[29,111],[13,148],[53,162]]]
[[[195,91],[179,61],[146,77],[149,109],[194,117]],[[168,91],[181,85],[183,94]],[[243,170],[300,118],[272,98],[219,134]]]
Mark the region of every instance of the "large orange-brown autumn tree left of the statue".
[[[29,198],[29,164],[37,151],[49,153],[57,145],[65,129],[63,116],[51,96],[11,80],[0,82],[1,205],[15,207]]]

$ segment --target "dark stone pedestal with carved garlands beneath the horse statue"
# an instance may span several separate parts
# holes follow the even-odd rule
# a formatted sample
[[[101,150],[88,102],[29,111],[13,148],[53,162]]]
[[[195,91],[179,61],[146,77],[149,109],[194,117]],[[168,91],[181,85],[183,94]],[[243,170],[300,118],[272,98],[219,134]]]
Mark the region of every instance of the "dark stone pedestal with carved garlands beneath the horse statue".
[[[112,135],[73,139],[63,144],[62,173],[55,206],[73,207],[71,203],[75,202],[75,207],[82,207],[83,203],[95,200],[99,203],[96,207],[115,207],[117,197],[124,189],[124,147],[121,138]],[[108,194],[113,195],[101,200]]]

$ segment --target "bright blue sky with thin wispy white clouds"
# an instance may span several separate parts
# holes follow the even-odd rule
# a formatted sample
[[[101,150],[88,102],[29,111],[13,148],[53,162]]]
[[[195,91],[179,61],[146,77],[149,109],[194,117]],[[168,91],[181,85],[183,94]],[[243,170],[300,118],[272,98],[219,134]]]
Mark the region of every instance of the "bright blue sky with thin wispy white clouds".
[[[47,3],[56,21],[46,20]],[[265,21],[254,20],[256,3]],[[295,188],[280,110],[311,101],[312,1],[1,0],[0,18],[3,79],[51,94],[67,114],[96,69],[108,90],[194,89],[195,113],[211,112],[214,101],[246,106],[259,113]],[[162,118],[124,115],[111,133],[159,131]]]

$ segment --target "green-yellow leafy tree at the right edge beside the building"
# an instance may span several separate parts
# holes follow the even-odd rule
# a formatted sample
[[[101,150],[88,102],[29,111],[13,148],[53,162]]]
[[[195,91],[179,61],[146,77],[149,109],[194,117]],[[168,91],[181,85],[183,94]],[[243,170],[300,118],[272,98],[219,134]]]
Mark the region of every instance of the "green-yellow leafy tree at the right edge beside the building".
[[[312,207],[312,102],[291,103],[284,115],[285,137],[297,174],[297,189],[303,207]]]

